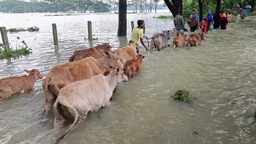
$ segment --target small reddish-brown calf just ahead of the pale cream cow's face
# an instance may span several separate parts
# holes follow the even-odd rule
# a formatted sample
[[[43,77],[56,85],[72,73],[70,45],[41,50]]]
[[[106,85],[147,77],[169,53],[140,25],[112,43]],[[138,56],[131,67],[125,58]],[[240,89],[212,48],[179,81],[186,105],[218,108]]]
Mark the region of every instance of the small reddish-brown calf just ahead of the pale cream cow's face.
[[[145,56],[139,54],[138,59],[126,61],[124,65],[124,75],[132,78],[134,75],[138,74],[141,70],[144,58]]]

